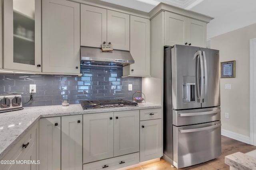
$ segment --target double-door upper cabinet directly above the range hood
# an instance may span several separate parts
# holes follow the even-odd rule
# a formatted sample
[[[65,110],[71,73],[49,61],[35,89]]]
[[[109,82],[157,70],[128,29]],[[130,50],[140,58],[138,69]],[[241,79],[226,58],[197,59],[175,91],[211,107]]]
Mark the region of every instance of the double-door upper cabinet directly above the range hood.
[[[101,47],[105,41],[130,51],[130,15],[81,4],[80,20],[81,46]]]

